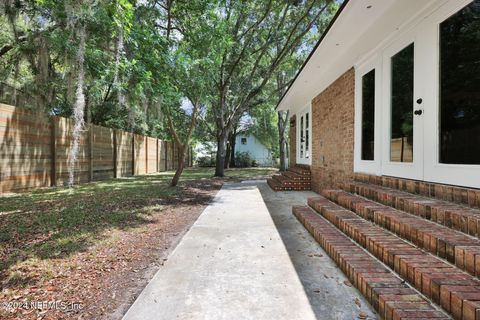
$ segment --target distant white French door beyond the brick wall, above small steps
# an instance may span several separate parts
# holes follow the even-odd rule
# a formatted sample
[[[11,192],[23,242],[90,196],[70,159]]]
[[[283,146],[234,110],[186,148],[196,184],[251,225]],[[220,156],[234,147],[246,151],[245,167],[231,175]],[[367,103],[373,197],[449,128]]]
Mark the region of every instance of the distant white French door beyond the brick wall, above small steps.
[[[312,163],[312,116],[311,106],[297,114],[297,163]]]

